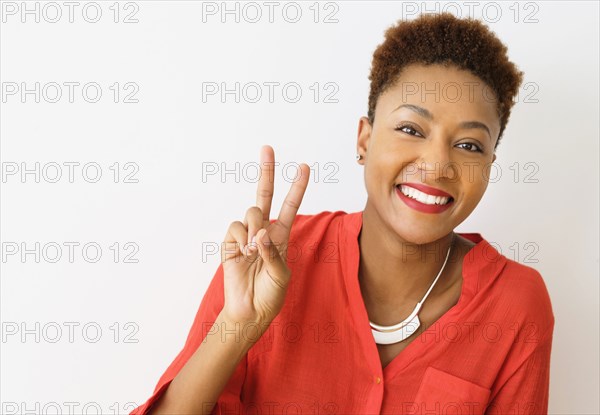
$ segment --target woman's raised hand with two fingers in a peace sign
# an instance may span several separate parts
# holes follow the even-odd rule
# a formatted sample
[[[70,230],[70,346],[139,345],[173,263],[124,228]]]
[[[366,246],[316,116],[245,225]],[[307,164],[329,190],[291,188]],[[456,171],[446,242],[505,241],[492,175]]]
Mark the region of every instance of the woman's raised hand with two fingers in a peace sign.
[[[229,225],[223,242],[225,303],[221,313],[229,321],[258,323],[266,330],[281,311],[290,282],[291,271],[286,264],[288,241],[308,185],[310,168],[300,164],[279,217],[271,223],[275,171],[271,146],[261,148],[260,160],[256,206],[246,211],[243,222]]]

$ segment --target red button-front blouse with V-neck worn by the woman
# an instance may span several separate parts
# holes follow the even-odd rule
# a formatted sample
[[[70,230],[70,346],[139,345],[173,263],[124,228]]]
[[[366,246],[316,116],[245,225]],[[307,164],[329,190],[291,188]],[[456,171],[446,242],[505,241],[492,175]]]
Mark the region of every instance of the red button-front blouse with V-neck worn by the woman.
[[[237,366],[213,414],[547,413],[554,314],[535,269],[478,233],[457,304],[382,369],[358,281],[362,212],[297,215],[282,311]],[[145,414],[223,308],[219,265],[183,350]],[[231,336],[231,335],[230,335]]]

